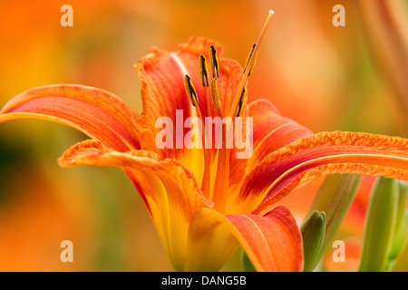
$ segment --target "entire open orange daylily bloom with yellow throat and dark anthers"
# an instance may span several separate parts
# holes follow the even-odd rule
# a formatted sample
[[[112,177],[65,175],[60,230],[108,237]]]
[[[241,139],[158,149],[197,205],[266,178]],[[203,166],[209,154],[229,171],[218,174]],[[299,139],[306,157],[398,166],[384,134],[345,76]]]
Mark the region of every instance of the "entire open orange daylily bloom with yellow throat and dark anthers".
[[[247,104],[257,44],[253,48],[245,69],[224,58],[219,43],[203,37],[191,37],[173,53],[152,48],[135,65],[141,114],[101,89],[50,85],[16,96],[0,112],[0,122],[56,121],[90,136],[65,151],[59,164],[124,169],[175,270],[219,270],[240,245],[258,271],[301,271],[302,237],[295,218],[285,207],[269,208],[297,185],[328,174],[408,179],[408,140],[313,134],[268,101]],[[238,159],[236,147],[158,149],[162,128],[156,121],[176,121],[180,110],[183,124],[192,116],[253,118],[252,156]],[[183,139],[188,134],[184,128]]]

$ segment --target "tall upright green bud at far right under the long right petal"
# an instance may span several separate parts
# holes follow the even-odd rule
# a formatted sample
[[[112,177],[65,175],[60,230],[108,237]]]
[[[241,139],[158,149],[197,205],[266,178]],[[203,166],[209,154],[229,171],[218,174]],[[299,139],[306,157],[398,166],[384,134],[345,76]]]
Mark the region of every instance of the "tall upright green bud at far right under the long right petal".
[[[396,179],[379,177],[368,203],[359,271],[386,270],[397,218],[399,187]]]

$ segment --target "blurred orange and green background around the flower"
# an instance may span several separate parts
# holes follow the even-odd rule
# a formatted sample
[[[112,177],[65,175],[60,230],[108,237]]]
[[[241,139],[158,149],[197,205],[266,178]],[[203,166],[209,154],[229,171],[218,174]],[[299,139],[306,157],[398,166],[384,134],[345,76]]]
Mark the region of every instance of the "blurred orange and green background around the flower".
[[[65,4],[73,6],[73,27],[60,24]],[[332,24],[334,5],[345,6],[345,27]],[[269,9],[276,13],[249,102],[267,98],[312,131],[408,137],[406,0],[0,0],[0,107],[36,86],[81,83],[141,111],[133,63],[151,46],[173,51],[203,35],[243,64]],[[63,151],[84,138],[44,121],[0,126],[0,271],[171,271],[120,169],[58,167]],[[283,202],[301,218],[320,182]],[[356,200],[359,222],[349,217],[357,237],[364,200]],[[73,263],[60,260],[65,239],[73,241]],[[223,268],[240,269],[238,255]]]

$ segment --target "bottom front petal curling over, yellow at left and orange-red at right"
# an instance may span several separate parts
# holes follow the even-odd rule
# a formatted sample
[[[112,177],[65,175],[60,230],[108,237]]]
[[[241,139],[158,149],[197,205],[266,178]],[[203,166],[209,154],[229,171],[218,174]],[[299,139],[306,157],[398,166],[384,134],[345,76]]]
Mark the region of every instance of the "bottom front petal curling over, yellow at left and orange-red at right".
[[[201,209],[191,221],[188,270],[219,270],[237,249],[235,237],[257,271],[301,271],[303,247],[300,230],[290,211],[275,208],[264,217],[229,215]],[[218,263],[218,264],[216,264]]]

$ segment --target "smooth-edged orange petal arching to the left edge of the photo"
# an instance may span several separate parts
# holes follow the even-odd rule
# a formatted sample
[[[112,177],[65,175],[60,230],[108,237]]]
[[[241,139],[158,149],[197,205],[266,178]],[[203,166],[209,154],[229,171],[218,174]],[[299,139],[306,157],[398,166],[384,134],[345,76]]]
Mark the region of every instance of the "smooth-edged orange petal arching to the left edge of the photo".
[[[15,119],[56,121],[114,150],[140,148],[136,112],[101,89],[68,84],[37,87],[15,96],[0,113],[0,123]]]

